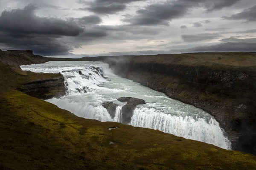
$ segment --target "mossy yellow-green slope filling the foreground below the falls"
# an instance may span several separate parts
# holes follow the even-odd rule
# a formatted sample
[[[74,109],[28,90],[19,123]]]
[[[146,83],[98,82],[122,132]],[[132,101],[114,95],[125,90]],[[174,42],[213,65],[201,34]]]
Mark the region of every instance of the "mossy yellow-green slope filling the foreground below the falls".
[[[36,77],[54,76],[17,73],[0,64],[0,169],[256,169],[252,155],[158,130],[79,118],[14,90]]]

